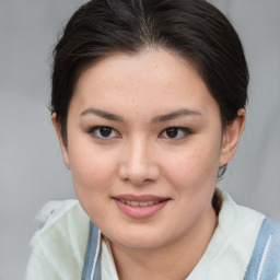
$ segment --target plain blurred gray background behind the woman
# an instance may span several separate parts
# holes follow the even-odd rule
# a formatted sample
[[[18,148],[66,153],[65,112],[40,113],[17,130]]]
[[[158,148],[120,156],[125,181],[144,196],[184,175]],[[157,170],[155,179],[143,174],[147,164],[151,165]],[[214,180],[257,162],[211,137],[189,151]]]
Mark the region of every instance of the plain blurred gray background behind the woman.
[[[81,0],[0,0],[0,280],[24,279],[33,217],[73,198],[47,109],[50,52]],[[220,187],[280,218],[280,1],[212,1],[232,20],[250,69],[240,150]]]

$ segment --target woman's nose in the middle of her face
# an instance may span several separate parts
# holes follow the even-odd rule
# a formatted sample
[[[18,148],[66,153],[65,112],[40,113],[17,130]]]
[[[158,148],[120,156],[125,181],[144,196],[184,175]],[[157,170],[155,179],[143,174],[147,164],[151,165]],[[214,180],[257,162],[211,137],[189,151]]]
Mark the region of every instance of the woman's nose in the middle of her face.
[[[147,141],[137,139],[124,148],[119,177],[135,186],[155,182],[160,176],[154,149]]]

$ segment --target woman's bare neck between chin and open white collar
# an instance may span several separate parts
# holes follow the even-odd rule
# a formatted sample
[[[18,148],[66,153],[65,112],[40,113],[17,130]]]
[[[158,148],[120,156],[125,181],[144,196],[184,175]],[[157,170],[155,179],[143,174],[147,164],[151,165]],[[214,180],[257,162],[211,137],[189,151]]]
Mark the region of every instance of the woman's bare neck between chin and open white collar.
[[[205,254],[217,222],[215,212],[209,207],[186,234],[162,247],[131,249],[112,243],[119,279],[186,279]]]

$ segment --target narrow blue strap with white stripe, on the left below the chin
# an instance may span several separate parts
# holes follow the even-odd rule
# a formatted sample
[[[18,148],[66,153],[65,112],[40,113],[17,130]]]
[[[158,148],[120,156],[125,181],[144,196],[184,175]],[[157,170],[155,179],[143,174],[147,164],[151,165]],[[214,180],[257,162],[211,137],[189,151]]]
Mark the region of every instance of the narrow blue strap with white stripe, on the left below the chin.
[[[90,233],[84,256],[82,280],[102,280],[101,232],[93,222],[90,222]]]

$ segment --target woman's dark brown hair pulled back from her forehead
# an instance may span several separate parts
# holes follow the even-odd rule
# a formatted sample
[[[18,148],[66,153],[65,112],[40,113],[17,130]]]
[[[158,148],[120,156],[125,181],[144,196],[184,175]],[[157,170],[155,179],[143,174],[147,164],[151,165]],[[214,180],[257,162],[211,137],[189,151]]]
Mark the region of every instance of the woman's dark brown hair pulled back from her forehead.
[[[246,106],[242,44],[217,8],[205,0],[92,0],[71,16],[54,50],[50,110],[66,144],[69,104],[86,66],[116,51],[136,55],[150,47],[192,63],[219,105],[223,127]]]

